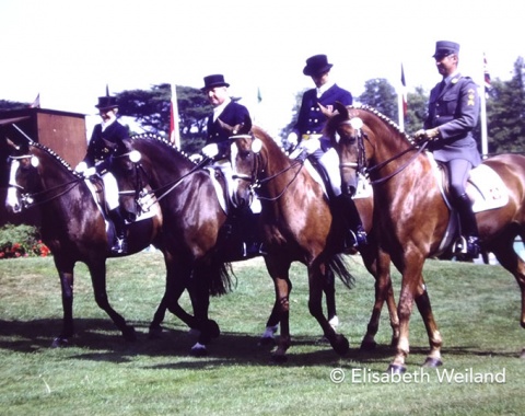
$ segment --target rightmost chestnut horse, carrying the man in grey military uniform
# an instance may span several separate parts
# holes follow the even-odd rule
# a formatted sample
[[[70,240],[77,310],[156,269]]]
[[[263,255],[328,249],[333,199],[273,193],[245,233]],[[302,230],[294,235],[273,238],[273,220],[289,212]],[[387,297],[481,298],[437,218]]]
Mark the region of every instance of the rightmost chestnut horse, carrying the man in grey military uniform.
[[[388,371],[400,373],[406,370],[413,302],[423,319],[430,343],[423,366],[441,366],[442,336],[432,313],[422,269],[428,257],[447,250],[447,238],[448,246],[454,243],[454,239],[450,239],[451,234],[454,235],[450,227],[457,219],[440,188],[441,175],[436,173],[435,162],[424,152],[424,145],[417,145],[372,107],[338,104],[327,122],[325,134],[339,154],[343,188],[353,182],[355,163],[358,171],[364,170],[370,175],[374,188],[374,224],[381,231],[380,245],[390,254],[401,274],[400,333]],[[500,207],[476,213],[481,250],[493,252],[500,264],[515,277],[522,293],[521,326],[525,327],[525,263],[513,250],[516,235],[525,236],[525,157],[500,154],[485,160],[482,166],[495,171],[502,180],[503,184],[493,188],[493,199],[508,192],[509,200]],[[467,192],[471,190],[474,187],[469,185]],[[525,350],[522,358],[525,358]]]

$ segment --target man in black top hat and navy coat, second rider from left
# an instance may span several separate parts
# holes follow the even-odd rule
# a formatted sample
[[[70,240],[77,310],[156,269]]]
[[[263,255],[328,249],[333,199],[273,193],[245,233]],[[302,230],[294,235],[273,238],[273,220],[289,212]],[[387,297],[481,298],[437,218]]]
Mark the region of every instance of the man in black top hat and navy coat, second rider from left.
[[[202,154],[213,159],[213,167],[219,169],[225,180],[226,187],[231,188],[230,182],[232,177],[232,166],[226,155],[230,151],[232,131],[225,128],[228,126],[249,125],[252,128],[252,118],[248,109],[233,101],[228,88],[230,84],[224,81],[222,74],[211,74],[205,77],[205,86],[201,91],[206,94],[208,101],[213,106],[213,113],[208,117],[208,132],[206,146],[202,148]],[[221,125],[221,122],[224,125]],[[250,235],[246,235],[246,241],[243,243],[243,256],[249,257],[261,252],[260,238],[256,234],[254,223],[254,212],[250,209],[243,209],[237,212],[237,223],[240,229],[244,232],[253,231]]]

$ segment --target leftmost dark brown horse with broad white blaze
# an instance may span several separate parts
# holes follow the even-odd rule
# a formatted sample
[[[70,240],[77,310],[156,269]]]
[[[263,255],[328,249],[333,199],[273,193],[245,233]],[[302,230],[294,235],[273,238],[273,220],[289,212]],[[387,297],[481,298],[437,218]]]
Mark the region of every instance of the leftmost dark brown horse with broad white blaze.
[[[100,203],[93,197],[88,181],[44,145],[31,141],[16,146],[10,161],[10,181],[7,208],[13,212],[37,208],[42,213],[40,234],[50,249],[57,268],[62,299],[62,330],[54,338],[52,347],[69,345],[74,335],[73,281],[77,262],[86,264],[93,285],[94,298],[126,340],[137,338],[136,331],[116,312],[106,291],[106,259],[116,257],[110,251],[112,229],[106,231]],[[122,197],[128,212],[137,213],[135,203]],[[128,226],[129,254],[158,243],[162,215],[156,204],[147,216]]]

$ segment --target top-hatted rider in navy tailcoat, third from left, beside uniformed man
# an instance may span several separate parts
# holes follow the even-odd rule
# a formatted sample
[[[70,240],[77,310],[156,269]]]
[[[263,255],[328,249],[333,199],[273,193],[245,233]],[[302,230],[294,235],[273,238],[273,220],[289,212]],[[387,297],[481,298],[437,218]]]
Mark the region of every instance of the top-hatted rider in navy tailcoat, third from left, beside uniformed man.
[[[366,244],[366,232],[352,197],[341,193],[337,152],[330,148],[329,140],[323,137],[323,128],[334,111],[334,104],[337,101],[343,105],[352,104],[352,94],[330,81],[331,67],[326,55],[314,55],[306,59],[303,73],[312,77],[316,88],[304,93],[298,122],[288,141],[296,145],[303,155],[313,158],[324,169],[334,194],[334,206],[350,229],[347,245],[359,247]]]

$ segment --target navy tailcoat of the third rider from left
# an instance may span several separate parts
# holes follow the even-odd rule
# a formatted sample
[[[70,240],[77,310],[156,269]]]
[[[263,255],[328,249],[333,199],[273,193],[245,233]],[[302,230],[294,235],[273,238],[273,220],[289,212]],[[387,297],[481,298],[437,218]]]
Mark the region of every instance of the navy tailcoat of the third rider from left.
[[[352,94],[337,84],[331,85],[320,97],[317,97],[316,89],[306,91],[303,94],[298,123],[295,123],[293,131],[295,131],[300,138],[302,135],[320,135],[327,117],[322,113],[319,103],[330,108],[336,101],[341,102],[343,105],[352,105]]]

